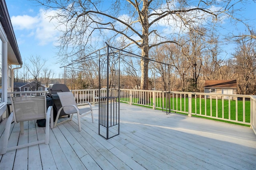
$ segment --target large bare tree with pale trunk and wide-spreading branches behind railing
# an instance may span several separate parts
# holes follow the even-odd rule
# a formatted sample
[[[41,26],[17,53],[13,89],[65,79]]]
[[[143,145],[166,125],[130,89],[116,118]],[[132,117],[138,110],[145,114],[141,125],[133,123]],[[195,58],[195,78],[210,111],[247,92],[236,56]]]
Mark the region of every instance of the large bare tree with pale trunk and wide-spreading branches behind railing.
[[[86,51],[91,44],[97,45],[95,39],[102,40],[100,37],[119,40],[123,47],[136,45],[142,56],[140,86],[148,89],[148,53],[152,47],[164,43],[182,45],[179,39],[188,28],[198,25],[210,28],[225,18],[232,18],[233,7],[242,0],[114,0],[112,4],[101,0],[38,2],[48,9],[56,9],[51,18],[59,22],[57,27],[63,31],[59,39],[60,56],[65,56],[62,61]],[[212,8],[214,6],[217,8]]]

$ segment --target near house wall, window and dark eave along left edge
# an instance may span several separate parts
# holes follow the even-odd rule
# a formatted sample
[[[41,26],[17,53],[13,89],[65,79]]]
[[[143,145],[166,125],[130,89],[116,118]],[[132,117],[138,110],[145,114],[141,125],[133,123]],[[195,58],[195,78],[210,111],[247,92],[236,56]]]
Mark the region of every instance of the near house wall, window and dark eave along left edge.
[[[0,122],[6,113],[7,92],[13,90],[14,69],[21,68],[22,59],[5,0],[0,0]],[[12,68],[13,65],[19,65]]]

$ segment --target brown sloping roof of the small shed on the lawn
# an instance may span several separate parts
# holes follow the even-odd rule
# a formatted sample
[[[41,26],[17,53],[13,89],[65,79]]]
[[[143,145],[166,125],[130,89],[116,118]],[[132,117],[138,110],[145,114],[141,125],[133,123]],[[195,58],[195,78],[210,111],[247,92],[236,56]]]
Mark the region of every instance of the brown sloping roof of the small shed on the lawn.
[[[204,88],[236,88],[236,80],[205,80]]]

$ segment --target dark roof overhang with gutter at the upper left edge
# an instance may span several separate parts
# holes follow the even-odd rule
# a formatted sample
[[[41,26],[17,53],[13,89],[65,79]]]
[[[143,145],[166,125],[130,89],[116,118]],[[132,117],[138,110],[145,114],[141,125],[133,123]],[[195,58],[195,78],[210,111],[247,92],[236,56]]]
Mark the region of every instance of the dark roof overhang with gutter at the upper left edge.
[[[0,22],[4,28],[4,31],[8,39],[8,60],[11,62],[11,64],[22,65],[22,59],[20,56],[18,43],[16,41],[16,37],[13,31],[11,19],[9,16],[9,12],[7,10],[5,0],[0,0]]]

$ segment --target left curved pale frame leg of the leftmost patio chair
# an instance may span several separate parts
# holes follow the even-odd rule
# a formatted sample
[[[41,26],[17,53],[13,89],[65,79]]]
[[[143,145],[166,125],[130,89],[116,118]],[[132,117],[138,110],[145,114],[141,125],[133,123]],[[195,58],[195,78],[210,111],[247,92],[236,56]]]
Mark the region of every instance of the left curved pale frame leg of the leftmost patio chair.
[[[10,135],[10,129],[11,129],[11,124],[13,121],[13,113],[11,113],[7,119],[6,125],[5,125],[5,130],[4,130],[4,138],[2,139],[1,142],[1,149],[0,149],[0,154],[6,154],[7,151],[7,145],[8,145],[8,139]]]

